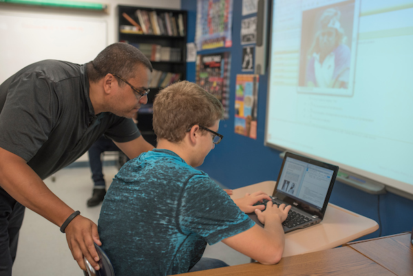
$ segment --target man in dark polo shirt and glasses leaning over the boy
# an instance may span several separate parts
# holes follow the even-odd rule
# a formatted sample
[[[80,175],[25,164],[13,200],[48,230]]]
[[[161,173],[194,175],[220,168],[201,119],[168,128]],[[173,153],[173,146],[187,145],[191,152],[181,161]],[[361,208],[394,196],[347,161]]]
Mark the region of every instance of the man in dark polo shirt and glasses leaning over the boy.
[[[96,224],[42,180],[82,156],[102,134],[129,158],[153,148],[131,119],[147,103],[151,70],[135,47],[114,43],[85,65],[41,61],[0,85],[1,276],[12,273],[24,206],[61,227],[83,270],[83,256],[98,268]]]

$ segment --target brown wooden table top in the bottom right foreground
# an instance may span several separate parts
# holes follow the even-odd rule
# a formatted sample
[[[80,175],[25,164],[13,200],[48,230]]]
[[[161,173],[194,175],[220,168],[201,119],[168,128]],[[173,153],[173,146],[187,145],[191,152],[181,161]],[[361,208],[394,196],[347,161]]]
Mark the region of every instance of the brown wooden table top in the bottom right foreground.
[[[410,235],[401,233],[351,242],[326,251],[283,257],[273,266],[240,264],[182,275],[413,275],[413,245]]]

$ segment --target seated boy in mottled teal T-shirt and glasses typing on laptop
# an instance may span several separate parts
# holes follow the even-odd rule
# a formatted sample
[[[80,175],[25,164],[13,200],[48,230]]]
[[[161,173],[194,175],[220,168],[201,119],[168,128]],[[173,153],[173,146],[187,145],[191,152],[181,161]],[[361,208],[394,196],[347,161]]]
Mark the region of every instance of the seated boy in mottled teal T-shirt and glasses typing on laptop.
[[[187,81],[156,96],[157,147],[120,169],[100,209],[102,248],[117,276],[198,270],[207,242],[222,241],[262,264],[281,259],[281,223],[290,206],[270,201],[261,211],[264,205],[253,204],[271,200],[262,192],[233,201],[206,173],[194,169],[222,139],[218,127],[223,115],[217,98]],[[246,215],[253,211],[264,228]]]

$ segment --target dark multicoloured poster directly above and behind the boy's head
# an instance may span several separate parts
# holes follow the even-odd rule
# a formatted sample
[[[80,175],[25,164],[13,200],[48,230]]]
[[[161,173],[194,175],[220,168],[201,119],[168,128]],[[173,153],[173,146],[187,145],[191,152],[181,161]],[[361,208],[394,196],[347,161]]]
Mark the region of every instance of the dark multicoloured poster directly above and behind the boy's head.
[[[231,53],[198,54],[196,83],[213,94],[224,106],[224,119],[229,118],[229,73]]]

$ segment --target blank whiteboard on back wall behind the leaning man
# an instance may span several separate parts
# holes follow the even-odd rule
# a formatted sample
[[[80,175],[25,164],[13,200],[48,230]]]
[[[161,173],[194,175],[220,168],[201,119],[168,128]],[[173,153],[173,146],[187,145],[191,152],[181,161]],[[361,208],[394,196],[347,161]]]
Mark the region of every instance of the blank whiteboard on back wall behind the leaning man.
[[[106,21],[0,13],[0,83],[44,59],[87,63],[107,46]]]

